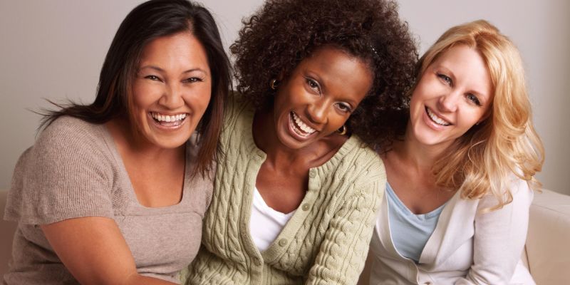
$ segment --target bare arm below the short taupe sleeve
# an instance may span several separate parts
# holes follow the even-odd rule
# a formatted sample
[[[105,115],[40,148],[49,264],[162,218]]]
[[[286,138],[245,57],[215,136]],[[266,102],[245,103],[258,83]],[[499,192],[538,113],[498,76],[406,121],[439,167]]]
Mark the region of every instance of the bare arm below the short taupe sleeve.
[[[42,225],[46,239],[81,284],[172,284],[140,276],[115,221],[81,217]]]

